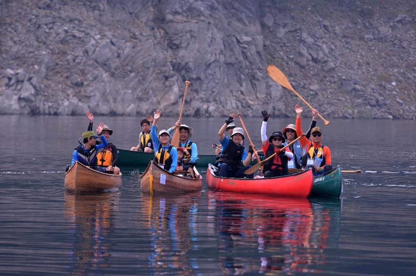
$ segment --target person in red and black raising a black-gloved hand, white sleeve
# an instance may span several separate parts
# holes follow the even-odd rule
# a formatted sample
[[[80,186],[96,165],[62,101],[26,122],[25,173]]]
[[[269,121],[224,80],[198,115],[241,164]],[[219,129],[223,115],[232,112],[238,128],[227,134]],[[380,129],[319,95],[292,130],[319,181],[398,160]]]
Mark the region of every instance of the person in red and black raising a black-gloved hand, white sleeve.
[[[269,120],[270,114],[266,110],[263,110],[261,111],[261,115],[263,116],[263,122],[261,124],[260,135],[261,149],[265,155],[264,158],[268,158],[274,153],[277,153],[274,158],[267,161],[263,166],[263,175],[265,178],[287,175],[288,160],[292,160],[293,153],[289,148],[281,150],[284,147],[282,145],[284,141],[282,132],[274,131],[269,139],[267,139],[267,121]]]

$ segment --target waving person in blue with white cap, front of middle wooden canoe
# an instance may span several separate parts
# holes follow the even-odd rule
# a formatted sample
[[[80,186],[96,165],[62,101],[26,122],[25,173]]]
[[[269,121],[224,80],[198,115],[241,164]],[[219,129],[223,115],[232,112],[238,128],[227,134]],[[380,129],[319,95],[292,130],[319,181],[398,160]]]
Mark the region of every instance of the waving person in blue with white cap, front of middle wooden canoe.
[[[178,151],[170,144],[170,133],[166,129],[162,129],[156,134],[160,114],[160,110],[155,111],[152,129],[150,130],[153,148],[155,149],[154,161],[165,170],[174,172],[178,166]]]

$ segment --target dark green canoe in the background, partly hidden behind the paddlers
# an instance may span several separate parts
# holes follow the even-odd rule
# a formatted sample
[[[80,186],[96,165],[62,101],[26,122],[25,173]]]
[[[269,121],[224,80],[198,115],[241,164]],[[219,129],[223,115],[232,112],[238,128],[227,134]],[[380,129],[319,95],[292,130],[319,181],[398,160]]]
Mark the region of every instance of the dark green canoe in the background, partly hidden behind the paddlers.
[[[126,149],[117,149],[119,153],[119,161],[117,166],[147,166],[150,161],[155,158],[154,153],[131,151]],[[206,167],[208,164],[214,164],[216,155],[199,155],[198,154],[198,167]],[[260,155],[262,159],[264,155]],[[257,161],[252,162],[251,165],[256,164]]]

